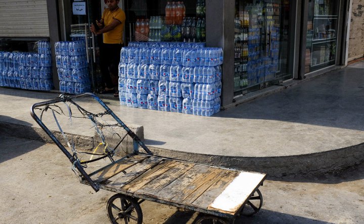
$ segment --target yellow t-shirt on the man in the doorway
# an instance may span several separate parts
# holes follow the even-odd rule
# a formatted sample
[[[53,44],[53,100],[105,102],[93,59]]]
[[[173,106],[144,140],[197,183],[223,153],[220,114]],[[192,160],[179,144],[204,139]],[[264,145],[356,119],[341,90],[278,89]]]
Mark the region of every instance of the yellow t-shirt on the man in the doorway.
[[[113,19],[119,20],[120,24],[117,25],[113,30],[104,33],[104,43],[123,43],[123,31],[125,24],[125,13],[122,9],[118,8],[113,12],[109,9],[105,9],[102,18],[104,25],[108,26],[111,24]]]

